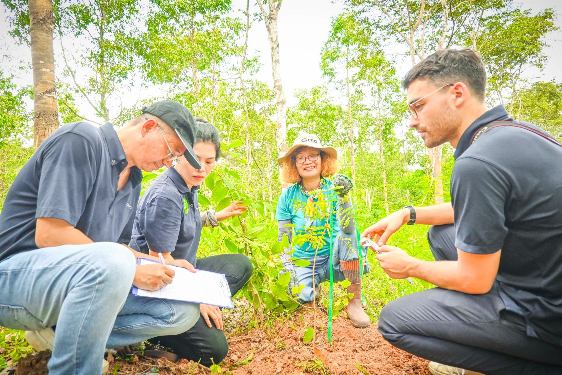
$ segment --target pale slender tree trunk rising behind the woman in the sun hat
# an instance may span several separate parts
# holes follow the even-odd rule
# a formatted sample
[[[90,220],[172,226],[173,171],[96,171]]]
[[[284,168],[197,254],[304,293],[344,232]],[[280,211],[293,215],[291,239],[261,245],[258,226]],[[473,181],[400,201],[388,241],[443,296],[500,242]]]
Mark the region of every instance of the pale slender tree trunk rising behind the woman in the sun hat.
[[[279,64],[279,40],[277,30],[277,16],[283,0],[275,4],[274,0],[268,0],[269,12],[266,12],[261,1],[257,4],[265,22],[265,28],[268,30],[269,47],[271,49],[271,73],[273,74],[273,91],[275,93],[275,102],[277,105],[277,131],[275,139],[277,141],[278,156],[283,156],[287,152],[287,98],[283,93],[283,84],[281,83],[281,66]],[[283,183],[283,188],[287,188],[288,184]]]

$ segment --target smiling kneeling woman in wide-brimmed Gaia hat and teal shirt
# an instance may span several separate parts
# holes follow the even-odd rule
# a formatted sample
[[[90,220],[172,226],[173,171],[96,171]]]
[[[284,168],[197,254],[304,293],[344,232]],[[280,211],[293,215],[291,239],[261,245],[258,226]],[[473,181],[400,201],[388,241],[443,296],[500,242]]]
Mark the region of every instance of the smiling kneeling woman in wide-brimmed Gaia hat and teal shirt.
[[[285,183],[292,183],[279,197],[275,219],[279,220],[279,241],[283,234],[287,234],[289,245],[291,244],[292,231],[287,224],[294,225],[295,234],[304,234],[306,228],[325,227],[327,219],[309,218],[302,209],[307,204],[314,206],[318,202],[319,195],[324,197],[336,197],[337,205],[334,209],[330,222],[332,228],[333,244],[333,280],[334,282],[348,279],[351,285],[347,288],[348,293],[353,293],[353,298],[347,305],[347,313],[351,324],[357,328],[368,327],[370,319],[361,306],[361,273],[355,219],[350,197],[347,193],[351,190],[351,180],[342,174],[336,174],[339,170],[337,162],[337,151],[333,147],[322,147],[320,140],[315,134],[303,134],[297,137],[293,146],[289,148],[285,156],[278,159],[281,166],[280,179]],[[325,177],[334,177],[328,180]],[[321,205],[316,205],[320,207]],[[312,209],[314,210],[314,209]],[[314,216],[314,214],[311,214]],[[316,215],[317,217],[319,215]],[[318,232],[316,232],[318,233]],[[304,284],[300,292],[302,302],[311,302],[320,291],[320,283],[330,278],[330,238],[328,231],[324,231],[323,245],[316,252],[316,265],[314,275],[314,288],[312,287],[312,266],[314,265],[315,249],[310,242],[292,246],[294,253],[287,254],[290,249],[285,249],[281,260],[284,272],[291,272],[292,287]],[[291,247],[291,246],[289,246]],[[359,248],[362,251],[362,248]],[[300,267],[294,265],[291,257],[306,259],[310,265]],[[364,257],[364,273],[369,271],[369,265]]]

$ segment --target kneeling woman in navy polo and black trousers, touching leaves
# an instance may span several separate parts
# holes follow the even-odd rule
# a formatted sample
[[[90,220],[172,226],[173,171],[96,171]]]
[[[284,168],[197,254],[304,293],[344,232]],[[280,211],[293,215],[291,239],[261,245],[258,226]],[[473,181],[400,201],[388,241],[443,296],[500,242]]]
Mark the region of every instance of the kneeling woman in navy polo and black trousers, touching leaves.
[[[197,269],[226,275],[234,296],[252,274],[252,263],[243,254],[221,254],[197,259],[201,227],[217,227],[230,216],[247,209],[234,202],[215,213],[200,213],[197,190],[220,157],[219,131],[205,120],[196,119],[198,130],[193,151],[202,169],[195,169],[184,156],[173,163],[140,198],[130,246],[145,254],[161,252],[164,259],[185,259]],[[164,135],[164,134],[162,134]],[[201,316],[189,331],[175,336],[158,336],[152,344],[170,347],[185,359],[210,367],[211,358],[220,363],[228,354],[221,311],[217,306],[200,305]]]

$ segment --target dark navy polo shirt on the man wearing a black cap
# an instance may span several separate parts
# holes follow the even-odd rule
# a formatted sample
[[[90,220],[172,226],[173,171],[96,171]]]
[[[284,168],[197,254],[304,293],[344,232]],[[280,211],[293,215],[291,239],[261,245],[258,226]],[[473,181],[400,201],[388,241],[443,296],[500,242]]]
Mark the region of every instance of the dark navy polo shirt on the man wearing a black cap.
[[[0,214],[0,261],[37,249],[37,218],[65,220],[94,242],[128,243],[142,172],[127,160],[110,123],[70,123],[51,134],[13,181]]]

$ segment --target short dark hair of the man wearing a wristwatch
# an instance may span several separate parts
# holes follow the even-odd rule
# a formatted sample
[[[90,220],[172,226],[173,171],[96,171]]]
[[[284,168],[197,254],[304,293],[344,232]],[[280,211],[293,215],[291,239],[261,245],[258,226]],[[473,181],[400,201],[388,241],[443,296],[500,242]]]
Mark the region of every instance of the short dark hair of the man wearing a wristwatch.
[[[437,86],[462,82],[475,98],[484,101],[486,67],[473,49],[442,49],[429,55],[410,69],[402,79],[402,88],[407,89],[416,79],[429,80]]]

